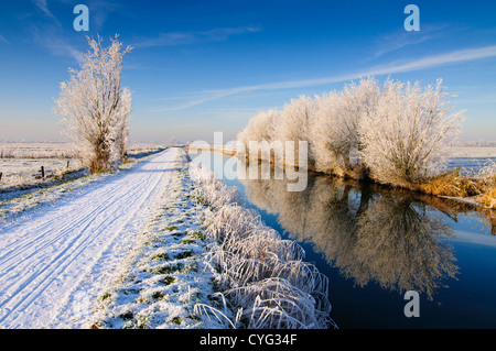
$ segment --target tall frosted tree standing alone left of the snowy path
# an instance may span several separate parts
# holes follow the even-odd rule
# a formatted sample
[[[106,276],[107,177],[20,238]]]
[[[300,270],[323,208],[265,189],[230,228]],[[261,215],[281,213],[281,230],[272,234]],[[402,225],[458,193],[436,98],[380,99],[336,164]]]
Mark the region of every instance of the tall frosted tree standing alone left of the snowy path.
[[[61,84],[54,111],[62,117],[66,136],[77,154],[95,173],[109,169],[114,160],[126,155],[131,94],[121,88],[122,48],[118,35],[108,47],[101,37],[89,39],[90,50],[80,69],[69,69],[71,79]]]

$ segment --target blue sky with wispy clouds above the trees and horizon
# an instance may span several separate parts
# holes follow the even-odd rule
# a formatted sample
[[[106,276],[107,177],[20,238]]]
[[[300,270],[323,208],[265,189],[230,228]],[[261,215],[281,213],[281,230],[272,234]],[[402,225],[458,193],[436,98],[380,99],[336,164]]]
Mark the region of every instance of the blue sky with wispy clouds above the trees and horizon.
[[[73,9],[89,9],[76,32]],[[420,31],[407,32],[407,4]],[[53,99],[87,51],[120,35],[133,141],[236,138],[258,111],[374,75],[443,78],[462,140],[496,140],[496,2],[15,0],[0,4],[0,141],[63,140]],[[106,41],[108,43],[108,40]]]

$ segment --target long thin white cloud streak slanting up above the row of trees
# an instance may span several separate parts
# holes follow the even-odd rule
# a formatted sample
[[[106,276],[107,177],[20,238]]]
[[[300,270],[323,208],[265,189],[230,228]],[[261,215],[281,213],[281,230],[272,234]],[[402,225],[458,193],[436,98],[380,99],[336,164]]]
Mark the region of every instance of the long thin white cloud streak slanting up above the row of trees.
[[[375,66],[362,72],[328,76],[323,78],[313,78],[304,80],[291,80],[291,81],[280,81],[280,83],[268,83],[254,86],[235,87],[229,89],[218,89],[204,91],[201,97],[190,100],[185,103],[166,107],[161,109],[161,111],[171,110],[184,110],[207,101],[217,100],[227,96],[233,96],[237,94],[251,92],[258,90],[278,90],[278,89],[292,89],[292,88],[305,88],[321,85],[328,85],[334,83],[347,81],[367,76],[381,76],[398,73],[414,72],[421,69],[435,68],[449,64],[457,64],[463,62],[471,62],[476,59],[496,57],[496,45],[485,46],[479,48],[468,48],[455,52],[450,52],[446,54],[432,55],[423,58],[413,59],[406,63],[391,63],[389,65]]]

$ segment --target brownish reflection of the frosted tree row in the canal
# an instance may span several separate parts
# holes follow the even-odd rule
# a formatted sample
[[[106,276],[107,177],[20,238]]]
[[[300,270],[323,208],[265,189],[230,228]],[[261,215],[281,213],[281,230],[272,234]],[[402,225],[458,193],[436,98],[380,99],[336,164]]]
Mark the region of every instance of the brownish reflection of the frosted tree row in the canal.
[[[250,202],[277,213],[292,239],[313,242],[358,286],[376,282],[432,299],[444,282],[456,278],[453,232],[439,204],[327,176],[309,177],[301,193],[287,191],[288,180],[238,178],[246,179],[240,182]]]

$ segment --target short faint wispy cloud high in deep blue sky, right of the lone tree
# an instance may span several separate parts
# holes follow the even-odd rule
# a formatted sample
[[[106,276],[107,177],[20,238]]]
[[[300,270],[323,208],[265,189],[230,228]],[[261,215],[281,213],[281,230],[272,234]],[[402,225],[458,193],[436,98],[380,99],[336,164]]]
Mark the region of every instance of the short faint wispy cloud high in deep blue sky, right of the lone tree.
[[[203,42],[224,42],[233,35],[260,32],[258,26],[219,28],[198,32],[169,32],[155,37],[138,37],[132,46],[157,47],[188,45]]]

